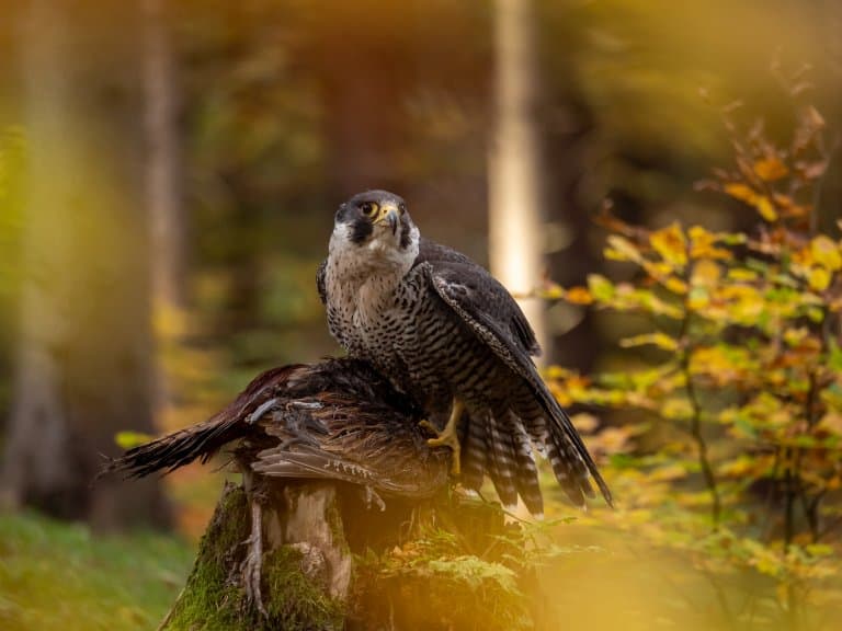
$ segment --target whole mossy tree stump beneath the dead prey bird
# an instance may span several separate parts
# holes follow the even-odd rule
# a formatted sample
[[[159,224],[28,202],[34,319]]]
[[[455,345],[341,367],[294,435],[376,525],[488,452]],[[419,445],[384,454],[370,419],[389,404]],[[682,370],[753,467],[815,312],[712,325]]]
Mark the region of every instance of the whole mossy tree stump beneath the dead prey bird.
[[[504,588],[493,577],[525,558],[499,508],[440,497],[366,509],[355,486],[246,478],[226,485],[159,631],[534,628],[531,571]]]

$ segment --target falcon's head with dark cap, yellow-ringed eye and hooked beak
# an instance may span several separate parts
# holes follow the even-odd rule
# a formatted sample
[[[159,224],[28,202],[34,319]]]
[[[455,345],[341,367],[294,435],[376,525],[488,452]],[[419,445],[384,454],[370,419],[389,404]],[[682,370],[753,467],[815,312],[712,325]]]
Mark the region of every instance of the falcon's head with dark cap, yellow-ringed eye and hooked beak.
[[[359,193],[337,211],[331,246],[400,257],[418,254],[419,233],[407,203],[388,191]]]

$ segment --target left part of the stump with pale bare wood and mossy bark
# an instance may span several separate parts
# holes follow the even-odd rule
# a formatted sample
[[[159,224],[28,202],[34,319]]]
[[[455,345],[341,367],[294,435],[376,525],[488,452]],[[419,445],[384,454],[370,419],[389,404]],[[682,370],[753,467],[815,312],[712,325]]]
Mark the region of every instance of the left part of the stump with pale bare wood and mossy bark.
[[[342,628],[351,553],[335,489],[275,491],[254,497],[226,484],[187,584],[159,629]],[[249,585],[252,572],[257,588]],[[263,611],[254,599],[261,592]]]

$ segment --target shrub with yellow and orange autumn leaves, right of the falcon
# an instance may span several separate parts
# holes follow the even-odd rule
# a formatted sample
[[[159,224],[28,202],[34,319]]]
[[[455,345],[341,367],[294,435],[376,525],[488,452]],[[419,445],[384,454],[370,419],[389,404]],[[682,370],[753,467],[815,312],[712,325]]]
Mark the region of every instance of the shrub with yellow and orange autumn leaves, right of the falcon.
[[[728,110],[724,119],[735,164],[699,188],[738,200],[755,225],[651,230],[606,206],[604,255],[632,279],[592,275],[549,294],[645,323],[619,341],[637,364],[550,377],[562,403],[605,418],[592,445],[610,456],[618,497],[607,519],[686,558],[724,628],[831,628],[842,603],[842,241],[818,228],[824,122],[800,107],[781,147],[762,124],[742,130]]]

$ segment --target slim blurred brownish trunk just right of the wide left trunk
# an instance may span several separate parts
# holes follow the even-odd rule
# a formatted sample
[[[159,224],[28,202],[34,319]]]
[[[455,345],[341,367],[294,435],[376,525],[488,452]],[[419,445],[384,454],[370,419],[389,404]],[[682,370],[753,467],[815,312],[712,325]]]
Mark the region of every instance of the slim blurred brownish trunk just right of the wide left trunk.
[[[184,332],[185,222],[182,205],[180,100],[168,0],[141,0],[144,13],[145,198],[149,214],[152,314],[159,347],[156,366],[156,416],[172,401],[163,358]]]

